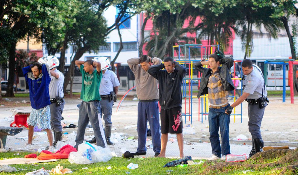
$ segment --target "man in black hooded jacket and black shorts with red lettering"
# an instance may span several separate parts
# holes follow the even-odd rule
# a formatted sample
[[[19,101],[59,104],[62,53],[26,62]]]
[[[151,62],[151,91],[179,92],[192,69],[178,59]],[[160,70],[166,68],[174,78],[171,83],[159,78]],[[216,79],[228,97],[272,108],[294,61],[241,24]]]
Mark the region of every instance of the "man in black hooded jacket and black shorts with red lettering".
[[[172,57],[166,57],[164,64],[151,66],[148,73],[158,80],[160,120],[162,125],[161,151],[158,157],[165,157],[169,132],[177,135],[180,157],[183,153],[182,134],[182,80],[186,68]]]

